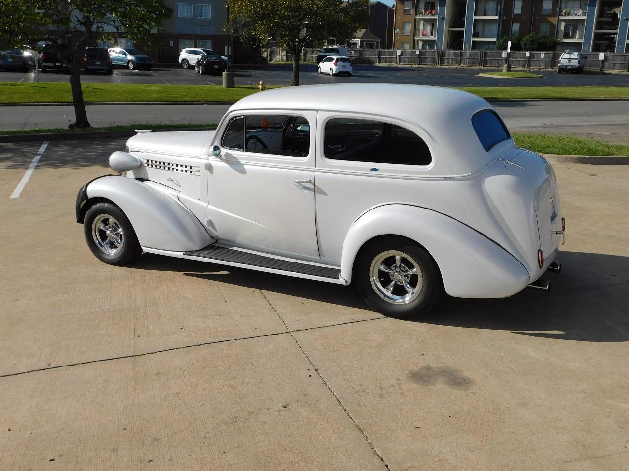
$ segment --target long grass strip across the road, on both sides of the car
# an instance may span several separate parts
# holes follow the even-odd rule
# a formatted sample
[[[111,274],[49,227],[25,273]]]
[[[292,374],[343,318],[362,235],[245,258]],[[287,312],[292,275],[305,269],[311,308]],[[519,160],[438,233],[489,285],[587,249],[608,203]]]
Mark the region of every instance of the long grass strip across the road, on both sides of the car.
[[[496,72],[502,73],[502,72]],[[526,72],[513,72],[526,73]],[[274,86],[268,87],[276,88]],[[130,101],[236,101],[257,93],[257,87],[243,85],[224,89],[214,85],[82,84],[86,102]],[[467,92],[485,99],[535,98],[629,98],[629,87],[467,87]],[[0,84],[0,103],[71,102],[70,84]]]

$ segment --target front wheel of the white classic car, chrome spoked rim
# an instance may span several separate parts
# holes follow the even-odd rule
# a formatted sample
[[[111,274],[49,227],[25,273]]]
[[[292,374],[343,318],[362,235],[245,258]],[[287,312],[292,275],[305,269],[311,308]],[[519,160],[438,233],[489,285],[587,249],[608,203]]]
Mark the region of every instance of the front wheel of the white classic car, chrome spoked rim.
[[[142,253],[135,230],[113,203],[96,203],[83,222],[87,246],[104,263],[126,265]]]

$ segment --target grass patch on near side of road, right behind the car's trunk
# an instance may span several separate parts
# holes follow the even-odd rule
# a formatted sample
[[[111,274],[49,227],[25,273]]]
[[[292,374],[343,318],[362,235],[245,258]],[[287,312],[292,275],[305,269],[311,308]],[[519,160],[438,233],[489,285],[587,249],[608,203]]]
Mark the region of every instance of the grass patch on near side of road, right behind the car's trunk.
[[[540,154],[629,155],[629,144],[610,144],[596,139],[554,134],[513,134],[518,146]]]

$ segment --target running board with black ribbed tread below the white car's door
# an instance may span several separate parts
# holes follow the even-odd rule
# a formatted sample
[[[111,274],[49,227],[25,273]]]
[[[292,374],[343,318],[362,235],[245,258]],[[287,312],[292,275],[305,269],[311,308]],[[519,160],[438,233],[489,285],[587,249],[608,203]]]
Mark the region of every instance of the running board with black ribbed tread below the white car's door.
[[[284,274],[298,278],[317,279],[328,283],[347,284],[340,277],[338,268],[292,261],[286,258],[265,256],[256,252],[230,249],[211,244],[203,249],[188,252],[173,252],[150,247],[142,247],[143,251],[170,257],[186,258],[209,263],[237,266],[267,273]]]

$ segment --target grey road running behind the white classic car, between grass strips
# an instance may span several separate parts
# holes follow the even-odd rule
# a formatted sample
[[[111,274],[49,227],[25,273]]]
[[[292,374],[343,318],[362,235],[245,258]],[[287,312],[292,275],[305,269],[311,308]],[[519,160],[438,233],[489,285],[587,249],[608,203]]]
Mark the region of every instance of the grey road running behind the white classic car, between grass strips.
[[[88,106],[92,126],[219,122],[230,105]],[[494,107],[515,132],[578,134],[629,142],[627,101],[514,101]],[[0,130],[64,127],[74,121],[71,106],[3,107]]]

